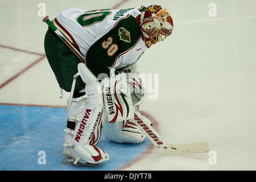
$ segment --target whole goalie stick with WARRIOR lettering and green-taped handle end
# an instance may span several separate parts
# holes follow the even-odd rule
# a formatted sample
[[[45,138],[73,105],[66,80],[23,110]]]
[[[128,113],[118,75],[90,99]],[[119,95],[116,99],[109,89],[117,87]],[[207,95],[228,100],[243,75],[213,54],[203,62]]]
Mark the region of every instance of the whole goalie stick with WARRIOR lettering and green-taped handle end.
[[[82,63],[85,63],[84,57],[81,55],[79,51],[69,42],[67,38],[57,29],[57,27],[49,20],[49,16],[46,16],[43,19],[43,22],[46,22],[51,28],[52,31],[55,32],[57,36],[68,46],[69,49],[81,60]],[[75,77],[75,76],[74,76]],[[206,142],[200,143],[186,143],[186,144],[170,144],[167,143],[162,137],[160,137],[159,133],[150,125],[150,123],[146,122],[146,119],[143,119],[141,114],[138,112],[134,113],[134,119],[131,119],[138,127],[143,131],[143,133],[147,136],[148,139],[154,144],[154,146],[160,148],[162,150],[162,154],[165,155],[182,155],[182,154],[193,154],[193,153],[204,153],[209,152],[209,146]]]

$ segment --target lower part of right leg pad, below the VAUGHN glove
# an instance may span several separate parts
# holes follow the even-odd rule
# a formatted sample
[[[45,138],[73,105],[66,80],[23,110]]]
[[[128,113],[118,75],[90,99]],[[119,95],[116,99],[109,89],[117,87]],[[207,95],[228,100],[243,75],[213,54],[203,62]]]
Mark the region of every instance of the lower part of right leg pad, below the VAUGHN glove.
[[[110,123],[105,121],[102,130],[104,136],[118,143],[141,143],[146,138],[146,135],[129,120]]]

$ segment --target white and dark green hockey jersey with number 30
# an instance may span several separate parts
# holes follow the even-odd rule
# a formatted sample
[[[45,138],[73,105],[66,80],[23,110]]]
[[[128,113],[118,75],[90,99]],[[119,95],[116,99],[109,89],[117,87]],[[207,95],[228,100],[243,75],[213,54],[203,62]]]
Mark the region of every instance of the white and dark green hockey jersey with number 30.
[[[85,56],[87,67],[98,76],[134,64],[146,50],[139,28],[144,6],[122,10],[71,8],[53,23]]]

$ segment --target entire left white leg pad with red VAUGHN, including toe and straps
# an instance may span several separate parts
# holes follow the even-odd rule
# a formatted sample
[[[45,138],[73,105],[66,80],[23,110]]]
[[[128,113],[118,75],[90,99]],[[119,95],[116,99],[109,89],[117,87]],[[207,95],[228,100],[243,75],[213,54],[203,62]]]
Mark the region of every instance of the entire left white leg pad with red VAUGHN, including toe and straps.
[[[73,164],[98,164],[109,160],[109,155],[100,147],[96,147],[100,139],[101,129],[106,117],[103,108],[103,97],[100,82],[85,67],[78,66],[80,76],[85,82],[86,102],[73,102],[69,107],[68,115],[76,122],[75,130],[65,129],[64,163]],[[80,105],[85,104],[84,107]],[[81,112],[81,113],[80,113]],[[86,166],[86,165],[85,165]]]

